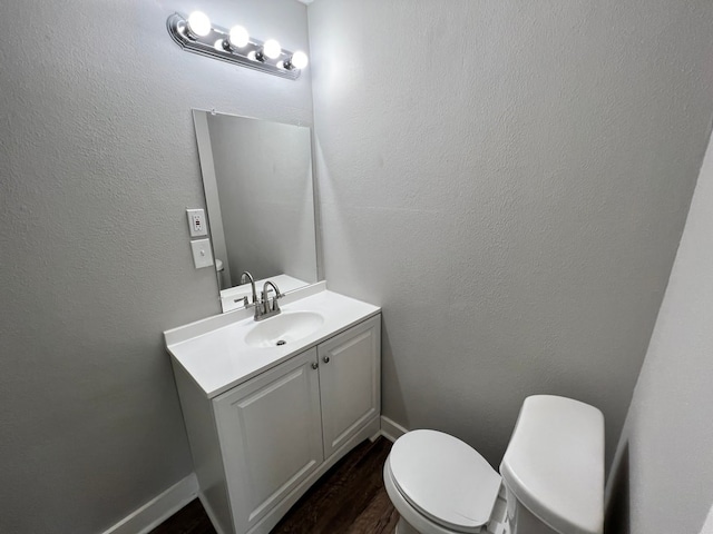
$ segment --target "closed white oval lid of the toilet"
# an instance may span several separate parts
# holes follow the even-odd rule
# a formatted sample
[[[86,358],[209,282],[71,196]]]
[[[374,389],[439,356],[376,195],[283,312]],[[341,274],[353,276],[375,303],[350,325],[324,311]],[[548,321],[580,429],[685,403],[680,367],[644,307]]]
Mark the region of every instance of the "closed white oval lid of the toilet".
[[[389,455],[404,498],[431,521],[459,532],[478,532],[490,520],[500,475],[460,439],[437,431],[413,431]]]

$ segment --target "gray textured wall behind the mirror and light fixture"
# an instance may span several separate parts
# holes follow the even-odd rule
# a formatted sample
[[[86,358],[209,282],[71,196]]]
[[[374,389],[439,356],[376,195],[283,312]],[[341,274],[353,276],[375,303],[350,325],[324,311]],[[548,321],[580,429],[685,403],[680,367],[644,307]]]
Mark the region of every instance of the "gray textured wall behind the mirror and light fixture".
[[[294,0],[199,7],[307,46]],[[309,76],[182,51],[165,21],[195,8],[0,3],[0,532],[99,532],[192,471],[162,340],[219,312],[191,108],[312,122]]]

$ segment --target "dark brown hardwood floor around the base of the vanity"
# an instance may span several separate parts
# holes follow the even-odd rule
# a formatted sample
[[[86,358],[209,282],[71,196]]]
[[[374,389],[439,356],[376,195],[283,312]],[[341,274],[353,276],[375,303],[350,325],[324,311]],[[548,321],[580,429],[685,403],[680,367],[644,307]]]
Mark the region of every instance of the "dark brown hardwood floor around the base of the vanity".
[[[399,521],[383,487],[391,443],[364,442],[328,471],[271,534],[391,534]],[[215,534],[198,500],[150,534]]]

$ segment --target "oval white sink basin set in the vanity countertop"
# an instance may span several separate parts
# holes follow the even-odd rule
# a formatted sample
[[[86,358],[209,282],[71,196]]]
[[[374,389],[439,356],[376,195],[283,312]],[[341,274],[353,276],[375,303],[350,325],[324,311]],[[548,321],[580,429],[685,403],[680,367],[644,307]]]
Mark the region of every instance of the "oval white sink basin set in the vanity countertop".
[[[314,312],[283,312],[257,323],[245,335],[251,347],[280,347],[309,336],[324,324],[324,316]]]

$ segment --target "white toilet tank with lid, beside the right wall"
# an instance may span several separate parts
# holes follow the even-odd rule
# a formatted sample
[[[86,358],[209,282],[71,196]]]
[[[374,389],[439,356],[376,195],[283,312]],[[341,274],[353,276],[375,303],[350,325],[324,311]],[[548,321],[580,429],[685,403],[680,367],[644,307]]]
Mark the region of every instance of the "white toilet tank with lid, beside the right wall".
[[[536,532],[533,523],[537,521],[543,523],[537,532],[600,534],[604,524],[602,412],[554,395],[527,397],[502,457],[500,475],[507,492],[512,534]]]

